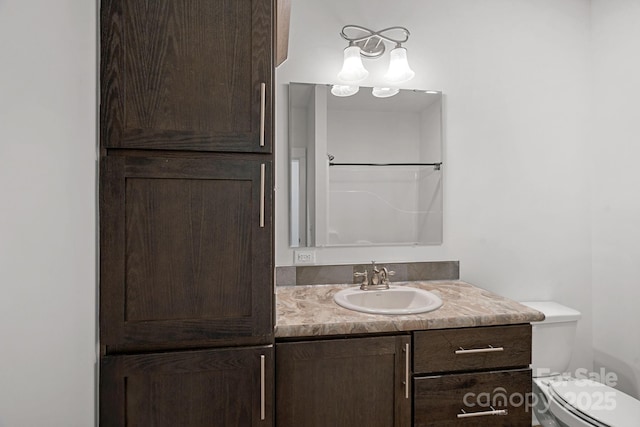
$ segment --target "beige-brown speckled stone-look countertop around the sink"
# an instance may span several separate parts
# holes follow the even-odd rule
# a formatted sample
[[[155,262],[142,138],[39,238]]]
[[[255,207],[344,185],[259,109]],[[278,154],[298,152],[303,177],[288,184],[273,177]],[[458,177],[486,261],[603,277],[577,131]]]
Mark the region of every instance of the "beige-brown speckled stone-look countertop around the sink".
[[[508,325],[544,315],[462,281],[394,282],[432,291],[443,305],[421,314],[367,314],[340,307],[333,295],[357,285],[276,287],[276,338]]]

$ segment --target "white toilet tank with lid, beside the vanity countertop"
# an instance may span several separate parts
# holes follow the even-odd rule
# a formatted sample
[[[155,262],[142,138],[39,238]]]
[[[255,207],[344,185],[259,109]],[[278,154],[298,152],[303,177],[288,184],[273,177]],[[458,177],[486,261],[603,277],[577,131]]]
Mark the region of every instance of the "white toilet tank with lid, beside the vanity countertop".
[[[545,316],[540,322],[531,322],[533,376],[544,377],[566,372],[571,361],[580,312],[553,301],[529,301],[521,304],[538,310]]]

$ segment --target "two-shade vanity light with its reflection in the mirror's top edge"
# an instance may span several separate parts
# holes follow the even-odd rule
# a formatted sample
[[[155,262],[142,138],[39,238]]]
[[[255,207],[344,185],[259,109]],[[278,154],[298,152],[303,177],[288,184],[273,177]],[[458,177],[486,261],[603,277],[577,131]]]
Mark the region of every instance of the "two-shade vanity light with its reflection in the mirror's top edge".
[[[389,53],[389,68],[383,77],[385,85],[374,88],[373,95],[380,98],[393,96],[398,93],[398,88],[394,86],[409,81],[415,76],[415,72],[409,67],[407,49],[402,46],[409,40],[409,30],[405,27],[389,27],[373,31],[359,25],[345,25],[340,35],[349,42],[349,46],[344,50],[344,62],[338,73],[338,78],[345,84],[334,85],[331,89],[334,95],[350,96],[357,92],[353,88],[369,75],[362,64],[362,57],[380,58],[386,50],[384,42],[394,44],[394,48]],[[351,89],[346,90],[345,87]]]

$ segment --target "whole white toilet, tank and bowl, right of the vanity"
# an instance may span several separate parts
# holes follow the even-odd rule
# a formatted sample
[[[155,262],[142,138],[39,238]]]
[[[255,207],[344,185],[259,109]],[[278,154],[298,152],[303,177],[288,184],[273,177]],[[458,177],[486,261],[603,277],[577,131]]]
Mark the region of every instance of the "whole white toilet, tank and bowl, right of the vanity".
[[[551,301],[521,303],[545,320],[533,322],[533,412],[543,427],[638,427],[640,401],[569,367],[580,312]],[[577,372],[576,372],[577,373]],[[576,378],[577,377],[577,378]],[[602,379],[605,380],[606,378]]]

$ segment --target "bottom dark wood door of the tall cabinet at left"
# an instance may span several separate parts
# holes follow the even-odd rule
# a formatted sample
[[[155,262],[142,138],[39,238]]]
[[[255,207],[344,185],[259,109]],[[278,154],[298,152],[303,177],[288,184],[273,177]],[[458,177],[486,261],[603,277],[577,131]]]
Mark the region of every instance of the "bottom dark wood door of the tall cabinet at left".
[[[101,427],[273,425],[273,347],[107,356]]]

